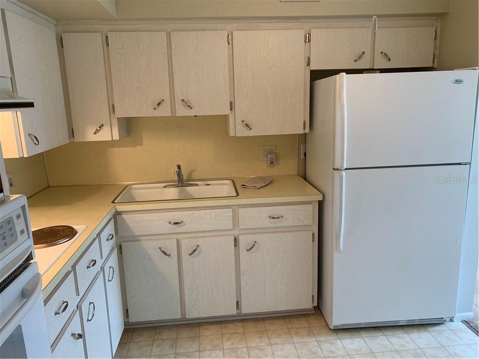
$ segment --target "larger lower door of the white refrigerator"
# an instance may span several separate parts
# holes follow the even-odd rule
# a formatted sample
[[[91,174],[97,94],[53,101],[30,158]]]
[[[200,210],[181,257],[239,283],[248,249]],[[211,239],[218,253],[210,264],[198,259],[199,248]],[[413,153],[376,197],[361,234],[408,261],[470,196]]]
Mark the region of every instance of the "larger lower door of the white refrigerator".
[[[333,326],[455,315],[468,170],[334,171]]]

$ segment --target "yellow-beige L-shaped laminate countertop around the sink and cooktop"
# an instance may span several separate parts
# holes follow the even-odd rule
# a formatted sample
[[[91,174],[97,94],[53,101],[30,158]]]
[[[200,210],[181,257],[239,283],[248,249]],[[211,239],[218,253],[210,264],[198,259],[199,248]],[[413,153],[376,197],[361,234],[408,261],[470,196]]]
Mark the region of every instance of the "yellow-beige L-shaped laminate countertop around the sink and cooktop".
[[[86,225],[79,238],[42,277],[43,297],[52,291],[107,220],[115,213],[129,210],[191,208],[253,203],[279,203],[321,200],[322,194],[299,176],[275,176],[260,189],[244,189],[249,178],[232,178],[238,189],[236,197],[171,200],[140,203],[112,203],[126,184],[48,187],[28,199],[32,228],[51,225]]]

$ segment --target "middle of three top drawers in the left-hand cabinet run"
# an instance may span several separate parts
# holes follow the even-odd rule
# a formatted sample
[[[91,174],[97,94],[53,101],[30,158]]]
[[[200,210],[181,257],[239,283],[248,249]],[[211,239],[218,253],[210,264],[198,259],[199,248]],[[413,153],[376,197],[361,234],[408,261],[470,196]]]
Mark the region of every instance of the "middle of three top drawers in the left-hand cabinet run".
[[[75,275],[76,294],[81,297],[95,277],[95,274],[100,270],[98,238],[91,242],[90,246],[85,249],[71,268]]]

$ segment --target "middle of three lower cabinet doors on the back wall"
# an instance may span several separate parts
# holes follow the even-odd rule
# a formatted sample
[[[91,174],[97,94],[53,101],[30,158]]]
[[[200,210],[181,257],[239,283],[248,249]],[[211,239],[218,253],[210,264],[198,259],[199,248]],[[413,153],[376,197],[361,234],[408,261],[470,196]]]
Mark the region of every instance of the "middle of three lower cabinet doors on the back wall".
[[[236,314],[233,236],[181,240],[186,317]]]

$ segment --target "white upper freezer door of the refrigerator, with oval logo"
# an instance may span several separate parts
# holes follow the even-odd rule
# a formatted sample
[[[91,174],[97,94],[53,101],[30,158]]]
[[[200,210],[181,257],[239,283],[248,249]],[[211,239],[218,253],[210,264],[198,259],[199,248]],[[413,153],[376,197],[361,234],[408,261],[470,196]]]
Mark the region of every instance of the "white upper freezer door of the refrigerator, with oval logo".
[[[477,70],[338,75],[336,87],[334,168],[471,161]]]

